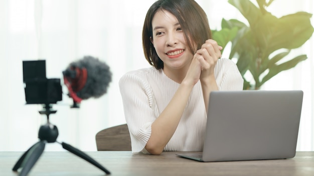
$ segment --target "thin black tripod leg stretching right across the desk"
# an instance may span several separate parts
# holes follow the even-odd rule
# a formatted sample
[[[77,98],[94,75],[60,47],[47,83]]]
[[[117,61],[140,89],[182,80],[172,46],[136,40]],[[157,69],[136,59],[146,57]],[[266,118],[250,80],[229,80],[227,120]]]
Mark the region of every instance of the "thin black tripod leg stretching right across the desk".
[[[72,152],[73,154],[85,159],[86,161],[90,162],[91,164],[95,165],[96,167],[100,168],[102,171],[106,172],[107,174],[110,174],[110,171],[107,170],[105,167],[103,167],[102,165],[100,165],[97,161],[95,161],[93,158],[91,158],[89,155],[87,155],[86,153],[84,153],[83,151],[73,147],[70,144],[67,144],[65,142],[62,142],[62,147],[70,152]]]

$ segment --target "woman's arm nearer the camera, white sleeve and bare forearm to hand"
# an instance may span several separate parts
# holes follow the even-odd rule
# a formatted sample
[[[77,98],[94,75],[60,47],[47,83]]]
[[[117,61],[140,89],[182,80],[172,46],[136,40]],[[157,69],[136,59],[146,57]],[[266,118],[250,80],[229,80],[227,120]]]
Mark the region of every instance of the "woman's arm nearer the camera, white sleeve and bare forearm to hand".
[[[160,154],[164,150],[176,131],[191,91],[199,80],[200,66],[191,64],[189,70],[161,113],[158,112],[154,95],[149,88],[154,85],[145,80],[145,71],[134,71],[121,77],[119,87],[131,134],[132,152]],[[195,73],[198,75],[194,76]],[[168,89],[174,90],[174,87]]]

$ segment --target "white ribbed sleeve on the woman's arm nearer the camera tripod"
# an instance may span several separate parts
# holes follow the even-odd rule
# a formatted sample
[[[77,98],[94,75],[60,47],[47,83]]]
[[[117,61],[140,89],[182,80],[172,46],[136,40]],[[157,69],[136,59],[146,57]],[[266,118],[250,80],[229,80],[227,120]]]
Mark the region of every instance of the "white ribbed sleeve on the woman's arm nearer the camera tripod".
[[[151,123],[156,118],[151,88],[147,81],[134,73],[123,75],[119,88],[132,152],[148,153],[144,147],[151,134]]]

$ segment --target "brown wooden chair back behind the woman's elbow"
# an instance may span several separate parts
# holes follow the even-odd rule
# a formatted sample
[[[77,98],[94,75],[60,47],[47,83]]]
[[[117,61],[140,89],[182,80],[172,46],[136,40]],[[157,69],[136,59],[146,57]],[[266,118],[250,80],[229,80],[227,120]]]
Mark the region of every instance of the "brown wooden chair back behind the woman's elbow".
[[[131,151],[131,138],[127,124],[97,132],[96,145],[98,151]]]

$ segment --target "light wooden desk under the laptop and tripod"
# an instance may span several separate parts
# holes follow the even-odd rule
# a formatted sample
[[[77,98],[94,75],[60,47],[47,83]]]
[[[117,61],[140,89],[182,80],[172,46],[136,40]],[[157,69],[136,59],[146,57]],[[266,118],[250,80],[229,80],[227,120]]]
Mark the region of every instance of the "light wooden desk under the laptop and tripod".
[[[176,156],[132,155],[130,151],[86,152],[111,175],[314,175],[314,151],[299,151],[291,159],[230,162],[199,162]],[[23,152],[0,152],[0,175],[18,175],[12,171]],[[105,175],[103,171],[68,151],[44,151],[29,173],[32,175]]]

